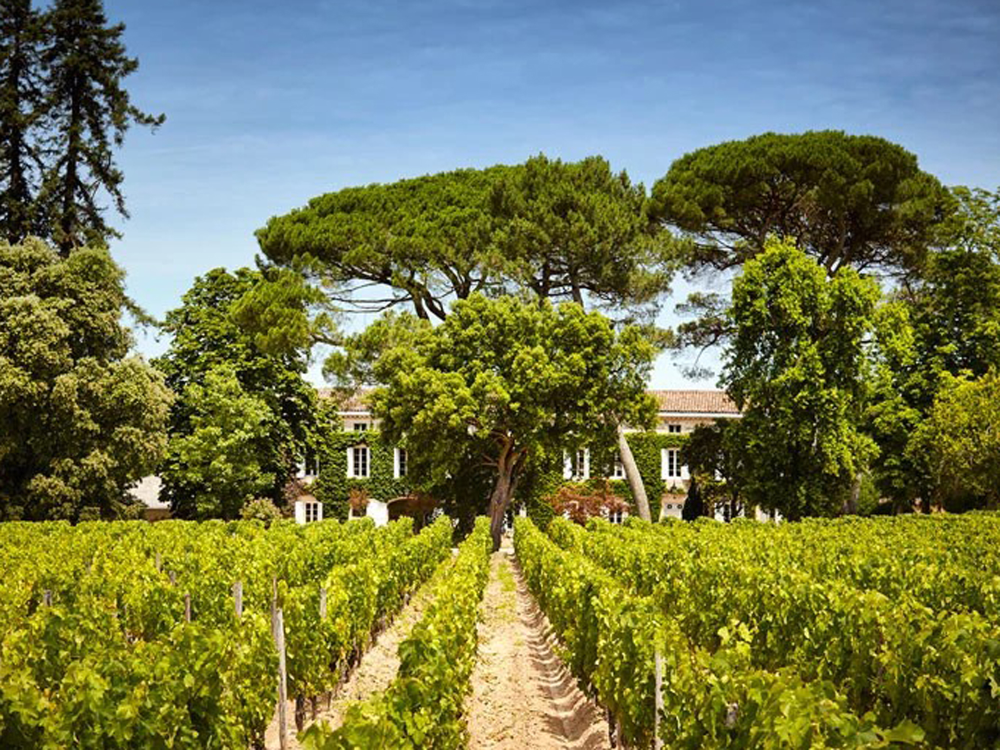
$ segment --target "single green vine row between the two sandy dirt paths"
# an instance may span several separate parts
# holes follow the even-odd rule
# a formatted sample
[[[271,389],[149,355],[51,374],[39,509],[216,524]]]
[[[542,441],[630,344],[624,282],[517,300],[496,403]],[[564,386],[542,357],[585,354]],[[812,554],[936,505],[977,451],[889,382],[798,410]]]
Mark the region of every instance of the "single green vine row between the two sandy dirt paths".
[[[489,522],[476,521],[454,564],[434,582],[433,598],[399,646],[395,679],[351,706],[336,731],[314,724],[303,735],[309,750],[355,747],[464,747],[465,697],[476,660],[479,600],[489,576]]]

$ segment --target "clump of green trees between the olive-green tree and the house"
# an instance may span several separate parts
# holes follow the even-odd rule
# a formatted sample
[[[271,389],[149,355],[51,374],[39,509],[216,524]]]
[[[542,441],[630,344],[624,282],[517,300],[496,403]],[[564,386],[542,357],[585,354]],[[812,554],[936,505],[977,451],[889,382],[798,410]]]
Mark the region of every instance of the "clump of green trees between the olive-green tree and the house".
[[[262,279],[245,268],[214,269],[167,313],[163,328],[173,338],[154,364],[180,398],[170,415],[163,495],[181,516],[233,518],[258,494],[281,503],[298,462],[332,429],[331,415],[317,409],[315,389],[303,378],[306,352],[267,353],[258,344],[261,334],[237,320],[239,306]],[[207,387],[213,377],[226,387],[213,392]],[[220,465],[213,466],[212,435],[229,430],[227,422],[234,429],[226,437],[228,455],[220,453]],[[196,497],[213,496],[217,505],[199,508]]]

